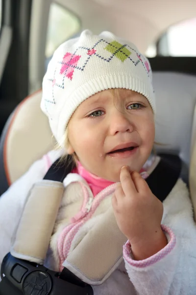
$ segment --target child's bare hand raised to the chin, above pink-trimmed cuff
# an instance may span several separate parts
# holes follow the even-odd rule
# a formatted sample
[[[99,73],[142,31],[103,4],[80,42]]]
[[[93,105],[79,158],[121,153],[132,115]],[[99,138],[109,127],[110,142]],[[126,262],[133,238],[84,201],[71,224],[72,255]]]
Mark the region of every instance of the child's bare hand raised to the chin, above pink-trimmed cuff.
[[[130,241],[134,258],[142,260],[167,245],[161,229],[163,204],[139,173],[130,173],[128,167],[123,167],[120,179],[112,198],[114,214],[120,230]]]

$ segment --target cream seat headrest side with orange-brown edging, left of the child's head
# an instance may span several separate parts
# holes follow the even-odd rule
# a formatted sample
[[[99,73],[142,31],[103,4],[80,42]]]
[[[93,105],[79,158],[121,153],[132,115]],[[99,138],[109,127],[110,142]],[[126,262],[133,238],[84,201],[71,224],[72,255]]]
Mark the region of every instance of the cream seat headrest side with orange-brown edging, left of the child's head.
[[[15,109],[3,130],[4,170],[10,185],[37,159],[55,147],[48,118],[40,109],[42,91],[25,98]]]

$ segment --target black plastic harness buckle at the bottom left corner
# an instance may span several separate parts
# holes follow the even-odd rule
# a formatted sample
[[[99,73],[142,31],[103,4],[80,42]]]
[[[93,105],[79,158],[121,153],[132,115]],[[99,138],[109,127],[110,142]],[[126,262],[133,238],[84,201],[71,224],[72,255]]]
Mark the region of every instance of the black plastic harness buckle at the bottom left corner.
[[[59,272],[18,259],[8,253],[0,270],[0,295],[93,295],[80,279],[71,282]]]

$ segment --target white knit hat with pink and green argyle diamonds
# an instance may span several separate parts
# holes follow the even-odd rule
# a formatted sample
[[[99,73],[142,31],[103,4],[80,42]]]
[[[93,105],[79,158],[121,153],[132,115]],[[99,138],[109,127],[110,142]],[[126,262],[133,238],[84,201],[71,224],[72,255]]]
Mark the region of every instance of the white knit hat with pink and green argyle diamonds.
[[[84,30],[54,52],[43,80],[41,109],[48,116],[57,142],[62,145],[68,122],[76,108],[105,89],[137,91],[155,113],[150,64],[131,42],[108,31],[93,35]]]

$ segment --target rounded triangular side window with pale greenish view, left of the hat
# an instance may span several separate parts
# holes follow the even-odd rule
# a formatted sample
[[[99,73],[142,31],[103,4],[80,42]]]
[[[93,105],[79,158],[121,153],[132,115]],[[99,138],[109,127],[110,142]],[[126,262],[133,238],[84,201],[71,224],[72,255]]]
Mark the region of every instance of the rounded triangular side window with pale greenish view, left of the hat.
[[[50,59],[55,49],[67,39],[80,32],[79,18],[65,7],[51,3],[46,42],[46,59]]]

